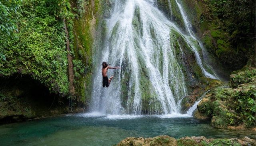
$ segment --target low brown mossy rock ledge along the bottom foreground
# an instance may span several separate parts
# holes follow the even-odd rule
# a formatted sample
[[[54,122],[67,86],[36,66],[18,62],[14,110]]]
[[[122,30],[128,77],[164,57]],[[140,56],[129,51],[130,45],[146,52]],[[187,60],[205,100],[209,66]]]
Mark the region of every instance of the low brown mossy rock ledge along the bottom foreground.
[[[154,138],[128,137],[114,146],[256,146],[256,142],[248,137],[213,139],[192,136],[175,139],[170,136],[157,136]]]

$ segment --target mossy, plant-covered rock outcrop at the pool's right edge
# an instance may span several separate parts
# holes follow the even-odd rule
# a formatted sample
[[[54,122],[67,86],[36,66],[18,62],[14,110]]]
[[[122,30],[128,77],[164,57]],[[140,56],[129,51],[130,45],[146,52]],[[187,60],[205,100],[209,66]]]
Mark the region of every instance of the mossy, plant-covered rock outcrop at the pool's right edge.
[[[232,74],[233,88],[215,88],[198,104],[196,118],[211,118],[215,127],[240,126],[255,127],[256,86],[255,69]]]

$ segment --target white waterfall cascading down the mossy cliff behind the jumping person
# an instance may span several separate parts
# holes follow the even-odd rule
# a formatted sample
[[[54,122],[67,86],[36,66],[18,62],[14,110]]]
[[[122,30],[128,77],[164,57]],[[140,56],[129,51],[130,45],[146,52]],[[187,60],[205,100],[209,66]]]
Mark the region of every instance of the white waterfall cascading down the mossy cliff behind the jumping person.
[[[177,52],[183,54],[181,42],[195,52],[204,70],[197,52],[198,40],[190,30],[190,35],[183,34],[154,3],[154,0],[116,0],[112,16],[106,20],[108,32],[106,43],[100,48],[102,54],[94,58],[98,68],[94,71],[92,112],[179,113],[180,103],[187,95],[184,69],[176,56]],[[184,13],[182,16],[185,17]],[[108,76],[114,75],[108,88],[102,87],[102,61],[120,66],[120,70],[108,70]],[[203,73],[214,78],[205,70]]]

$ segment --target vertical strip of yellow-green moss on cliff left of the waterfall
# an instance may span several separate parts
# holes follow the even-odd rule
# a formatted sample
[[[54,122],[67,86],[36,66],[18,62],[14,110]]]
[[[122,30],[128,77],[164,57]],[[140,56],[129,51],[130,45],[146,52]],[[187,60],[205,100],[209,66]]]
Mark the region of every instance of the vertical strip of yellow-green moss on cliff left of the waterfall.
[[[80,2],[80,1],[77,1]],[[75,96],[79,102],[86,103],[86,99],[90,97],[91,92],[91,72],[92,72],[92,48],[94,36],[92,30],[98,23],[98,10],[100,10],[100,2],[81,1],[82,5],[77,4],[80,9],[78,19],[74,20],[74,49],[73,66],[74,66],[74,83]],[[93,2],[93,4],[92,4]],[[83,11],[94,13],[84,13]],[[99,14],[100,15],[100,14]],[[99,16],[100,17],[100,16]],[[94,18],[97,18],[96,20]],[[92,22],[96,23],[92,23]]]

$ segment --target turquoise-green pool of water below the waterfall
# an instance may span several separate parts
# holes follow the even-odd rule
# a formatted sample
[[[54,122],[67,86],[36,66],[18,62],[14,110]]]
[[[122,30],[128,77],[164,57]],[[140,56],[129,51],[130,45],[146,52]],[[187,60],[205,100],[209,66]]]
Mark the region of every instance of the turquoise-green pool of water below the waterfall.
[[[128,136],[148,138],[159,135],[255,138],[255,132],[216,129],[210,126],[210,121],[179,114],[86,113],[0,125],[1,146],[112,146]]]

